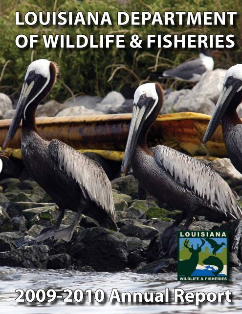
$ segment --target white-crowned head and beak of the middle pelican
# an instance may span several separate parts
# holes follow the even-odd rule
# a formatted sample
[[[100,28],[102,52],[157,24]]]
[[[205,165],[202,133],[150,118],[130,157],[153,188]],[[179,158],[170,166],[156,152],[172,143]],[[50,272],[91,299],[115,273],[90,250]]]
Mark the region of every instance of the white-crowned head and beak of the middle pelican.
[[[121,172],[126,173],[130,166],[132,155],[137,144],[141,131],[146,133],[154,123],[163,100],[163,90],[156,83],[146,83],[140,85],[133,97],[132,120],[128,141],[125,149]]]

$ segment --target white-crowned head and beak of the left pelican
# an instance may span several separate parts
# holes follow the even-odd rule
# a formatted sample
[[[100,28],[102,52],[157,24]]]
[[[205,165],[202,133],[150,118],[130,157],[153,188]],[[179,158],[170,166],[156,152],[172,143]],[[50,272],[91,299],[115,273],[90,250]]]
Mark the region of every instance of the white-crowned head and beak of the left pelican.
[[[31,111],[34,113],[37,105],[39,105],[50,92],[57,73],[57,65],[46,59],[36,60],[29,65],[15,115],[2,145],[2,149],[8,146],[17,132],[21,120],[26,119],[27,112]]]

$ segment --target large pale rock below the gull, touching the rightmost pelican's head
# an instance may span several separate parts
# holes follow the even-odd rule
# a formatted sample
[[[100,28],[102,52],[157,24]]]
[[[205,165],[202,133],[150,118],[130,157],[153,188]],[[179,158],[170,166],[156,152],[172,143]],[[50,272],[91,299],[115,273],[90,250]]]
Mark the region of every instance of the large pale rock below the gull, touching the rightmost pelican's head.
[[[226,71],[223,69],[206,71],[193,87],[193,91],[204,95],[216,104],[220,97]]]

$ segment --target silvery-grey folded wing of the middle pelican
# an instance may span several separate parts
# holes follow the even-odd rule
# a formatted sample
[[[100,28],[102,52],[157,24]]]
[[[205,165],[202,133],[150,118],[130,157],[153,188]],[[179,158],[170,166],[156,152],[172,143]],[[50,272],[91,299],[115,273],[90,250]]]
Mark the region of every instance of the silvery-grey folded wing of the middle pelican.
[[[235,218],[242,218],[242,210],[237,204],[235,194],[210,166],[167,146],[157,145],[152,151],[156,162],[177,183],[192,189],[211,206],[217,206]]]

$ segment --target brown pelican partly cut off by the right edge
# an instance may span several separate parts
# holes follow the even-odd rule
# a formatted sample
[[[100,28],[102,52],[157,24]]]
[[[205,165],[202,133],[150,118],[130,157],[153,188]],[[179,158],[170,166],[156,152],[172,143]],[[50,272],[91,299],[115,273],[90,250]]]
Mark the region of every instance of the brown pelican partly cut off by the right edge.
[[[222,121],[222,132],[229,157],[242,173],[242,122],[236,109],[242,102],[242,64],[226,72],[220,98],[208,124],[202,142],[205,144]]]

